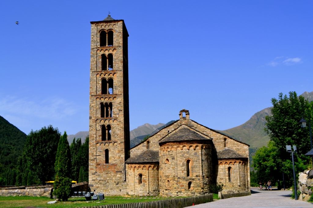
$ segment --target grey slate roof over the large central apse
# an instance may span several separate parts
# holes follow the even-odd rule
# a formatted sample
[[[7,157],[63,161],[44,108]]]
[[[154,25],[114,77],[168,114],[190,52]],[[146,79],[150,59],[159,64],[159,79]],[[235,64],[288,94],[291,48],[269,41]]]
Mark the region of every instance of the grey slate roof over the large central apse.
[[[169,136],[164,137],[161,142],[167,142],[167,141],[190,141],[190,140],[210,140],[205,138],[204,136],[201,136],[195,131],[190,130],[189,128],[181,128],[175,133],[170,134]]]

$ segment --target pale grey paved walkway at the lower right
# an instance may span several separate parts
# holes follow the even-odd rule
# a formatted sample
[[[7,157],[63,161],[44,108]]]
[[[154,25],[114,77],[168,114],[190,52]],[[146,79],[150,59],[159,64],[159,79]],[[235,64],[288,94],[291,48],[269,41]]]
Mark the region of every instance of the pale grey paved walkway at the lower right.
[[[295,201],[290,198],[291,191],[259,191],[259,188],[251,188],[251,196],[233,197],[217,201],[190,206],[190,208],[231,207],[231,208],[313,208],[313,204],[305,201]]]

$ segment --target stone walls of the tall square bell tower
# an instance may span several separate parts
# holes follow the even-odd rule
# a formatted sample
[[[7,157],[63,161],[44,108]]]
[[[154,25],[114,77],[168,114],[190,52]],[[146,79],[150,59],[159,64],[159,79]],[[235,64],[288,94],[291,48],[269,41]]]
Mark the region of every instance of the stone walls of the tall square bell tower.
[[[100,47],[100,31],[112,30],[113,46]],[[89,184],[92,190],[105,195],[126,194],[125,155],[128,141],[125,132],[129,131],[128,80],[124,86],[124,74],[128,67],[123,51],[127,33],[124,21],[91,22],[90,50],[90,123],[89,123]],[[126,42],[127,44],[127,42]],[[101,55],[113,54],[113,70],[101,71]],[[127,54],[126,54],[127,55]],[[128,61],[128,60],[125,60]],[[125,65],[126,64],[126,65]],[[125,69],[126,68],[126,69]],[[113,79],[113,94],[101,94],[101,79]],[[127,77],[128,79],[128,77]],[[112,116],[101,118],[100,104],[112,103]],[[101,140],[101,126],[111,126],[111,141]],[[125,127],[126,126],[126,127]],[[125,129],[126,128],[126,129]],[[126,144],[126,145],[125,145]],[[109,150],[109,163],[105,164],[104,151]]]

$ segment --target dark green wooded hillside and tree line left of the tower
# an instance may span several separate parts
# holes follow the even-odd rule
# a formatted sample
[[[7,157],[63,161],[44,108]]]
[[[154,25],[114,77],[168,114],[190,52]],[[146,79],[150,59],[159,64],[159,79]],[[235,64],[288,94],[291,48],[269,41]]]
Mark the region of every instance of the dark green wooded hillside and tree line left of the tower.
[[[66,132],[61,136],[58,128],[50,125],[26,135],[3,117],[0,117],[0,125],[0,186],[38,185],[54,181],[60,139],[65,137],[65,146],[69,146]],[[74,138],[69,146],[71,180],[88,181],[88,147],[88,137],[84,143],[80,138]]]

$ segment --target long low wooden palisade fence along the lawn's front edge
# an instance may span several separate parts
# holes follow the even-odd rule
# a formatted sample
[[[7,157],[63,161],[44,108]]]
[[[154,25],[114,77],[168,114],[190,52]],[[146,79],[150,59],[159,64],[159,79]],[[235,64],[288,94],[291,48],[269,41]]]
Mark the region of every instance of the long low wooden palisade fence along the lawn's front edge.
[[[105,206],[91,206],[90,208],[182,208],[213,201],[213,194],[204,194],[186,198],[167,199],[159,201],[111,204]],[[84,207],[79,207],[84,208]]]

